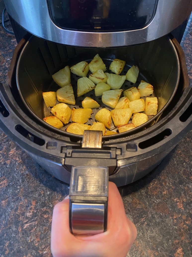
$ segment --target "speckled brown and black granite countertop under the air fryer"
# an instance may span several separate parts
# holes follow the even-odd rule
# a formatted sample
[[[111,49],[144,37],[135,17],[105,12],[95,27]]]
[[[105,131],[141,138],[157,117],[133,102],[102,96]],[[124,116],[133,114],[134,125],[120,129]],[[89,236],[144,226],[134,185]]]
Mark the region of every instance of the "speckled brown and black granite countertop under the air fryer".
[[[191,21],[191,19],[190,19]],[[7,24],[10,28],[10,25]],[[192,86],[192,23],[182,47]],[[0,81],[17,45],[0,25]],[[0,256],[50,257],[52,210],[69,185],[49,175],[0,130]],[[192,256],[192,132],[150,174],[120,188],[138,235],[127,256]]]

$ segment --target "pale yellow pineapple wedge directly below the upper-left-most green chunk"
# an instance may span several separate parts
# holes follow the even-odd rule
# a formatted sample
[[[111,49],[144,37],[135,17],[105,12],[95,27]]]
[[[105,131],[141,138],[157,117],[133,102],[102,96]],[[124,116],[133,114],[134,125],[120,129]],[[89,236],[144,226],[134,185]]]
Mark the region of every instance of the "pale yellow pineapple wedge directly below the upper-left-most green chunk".
[[[57,90],[57,100],[65,104],[75,104],[75,97],[73,94],[73,88],[70,85],[59,88]]]

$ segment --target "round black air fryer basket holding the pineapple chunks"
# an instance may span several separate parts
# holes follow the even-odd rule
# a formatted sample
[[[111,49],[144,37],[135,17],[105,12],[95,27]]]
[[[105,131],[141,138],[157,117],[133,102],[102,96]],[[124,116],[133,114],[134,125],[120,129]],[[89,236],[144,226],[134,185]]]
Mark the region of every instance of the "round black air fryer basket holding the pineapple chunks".
[[[121,133],[121,136],[137,132],[144,127],[151,126],[155,121],[158,121],[158,117],[173,99],[180,77],[180,65],[177,51],[168,36],[145,44],[122,48],[69,47],[32,36],[25,44],[20,54],[16,70],[18,91],[27,109],[43,123],[44,126],[49,127],[51,130],[58,131],[58,129],[51,127],[42,120],[44,117],[52,115],[50,112],[51,108],[45,106],[42,92],[56,91],[60,88],[53,81],[52,74],[66,65],[72,66],[80,61],[90,62],[97,53],[99,53],[100,57],[103,59],[107,67],[106,72],[109,73],[109,66],[114,58],[126,61],[126,65],[121,75],[125,75],[132,65],[138,65],[140,74],[136,84],[126,80],[122,89],[127,89],[132,86],[137,87],[141,79],[143,79],[153,85],[153,96],[158,98],[158,113],[154,116],[148,116],[149,120],[147,123],[132,131],[124,132],[123,134]],[[90,71],[88,75],[89,74]],[[90,96],[100,104],[100,108],[98,109],[107,108],[111,110],[109,106],[102,103],[101,97],[95,96],[94,90],[83,96],[77,97],[77,80],[79,78],[79,76],[71,73],[71,84],[73,86],[76,104],[69,105],[69,107],[71,109],[73,107],[82,108],[81,102],[83,98]],[[93,114],[87,124],[92,125],[95,121],[94,116],[98,112],[98,109],[93,109]],[[60,133],[66,134],[67,132],[65,130],[71,122],[70,119],[69,123],[61,128],[63,131]],[[111,123],[110,130],[117,130],[113,123]],[[118,135],[116,134],[108,137],[117,136]]]

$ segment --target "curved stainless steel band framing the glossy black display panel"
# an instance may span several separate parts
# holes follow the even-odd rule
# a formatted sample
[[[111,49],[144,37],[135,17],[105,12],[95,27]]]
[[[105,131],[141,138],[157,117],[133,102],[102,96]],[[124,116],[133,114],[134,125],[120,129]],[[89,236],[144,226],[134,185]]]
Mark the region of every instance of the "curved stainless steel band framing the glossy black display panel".
[[[159,0],[152,22],[139,30],[84,32],[56,26],[46,0],[4,0],[7,12],[32,34],[61,44],[82,47],[120,47],[144,43],[168,34],[191,13],[192,0]]]

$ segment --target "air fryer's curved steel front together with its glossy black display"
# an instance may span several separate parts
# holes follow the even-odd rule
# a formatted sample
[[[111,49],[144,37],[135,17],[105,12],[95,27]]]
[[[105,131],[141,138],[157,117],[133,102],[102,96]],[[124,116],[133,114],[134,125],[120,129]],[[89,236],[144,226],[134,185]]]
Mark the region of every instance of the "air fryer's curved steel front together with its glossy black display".
[[[192,0],[5,0],[25,30],[80,47],[120,47],[168,34],[189,17]]]

